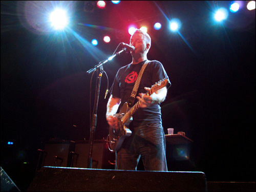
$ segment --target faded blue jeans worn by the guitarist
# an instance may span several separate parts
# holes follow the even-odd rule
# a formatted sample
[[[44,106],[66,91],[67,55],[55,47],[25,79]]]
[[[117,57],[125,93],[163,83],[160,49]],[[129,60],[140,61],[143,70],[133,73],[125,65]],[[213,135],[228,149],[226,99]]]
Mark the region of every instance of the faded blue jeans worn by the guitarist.
[[[165,136],[161,123],[131,128],[132,135],[124,139],[116,152],[115,169],[137,170],[142,159],[145,170],[167,171]]]

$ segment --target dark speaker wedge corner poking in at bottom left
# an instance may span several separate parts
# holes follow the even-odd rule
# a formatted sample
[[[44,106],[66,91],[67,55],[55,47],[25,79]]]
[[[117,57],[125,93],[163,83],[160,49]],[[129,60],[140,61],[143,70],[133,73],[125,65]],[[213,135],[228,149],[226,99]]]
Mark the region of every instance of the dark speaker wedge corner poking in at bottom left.
[[[1,191],[20,191],[1,167]]]

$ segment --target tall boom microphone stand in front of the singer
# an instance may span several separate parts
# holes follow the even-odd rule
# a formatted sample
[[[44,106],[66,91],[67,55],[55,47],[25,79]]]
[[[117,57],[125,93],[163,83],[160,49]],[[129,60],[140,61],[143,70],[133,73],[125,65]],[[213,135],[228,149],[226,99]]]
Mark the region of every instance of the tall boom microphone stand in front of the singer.
[[[119,44],[120,45],[120,44]],[[98,65],[94,66],[94,68],[90,69],[89,71],[87,71],[87,73],[92,73],[94,71],[97,71],[97,87],[96,87],[96,97],[94,100],[94,108],[93,108],[93,115],[92,115],[92,119],[91,119],[91,133],[90,133],[90,150],[89,150],[89,156],[88,156],[88,168],[92,168],[92,154],[93,154],[93,143],[94,143],[94,134],[95,134],[95,128],[96,128],[96,124],[97,124],[97,109],[98,109],[98,101],[99,101],[99,90],[100,90],[100,82],[101,82],[101,77],[102,77],[102,73],[104,72],[103,70],[103,65],[112,60],[115,56],[119,55],[120,53],[122,53],[123,51],[125,51],[126,48],[123,48],[121,51],[113,54],[110,58],[100,61],[98,63]]]

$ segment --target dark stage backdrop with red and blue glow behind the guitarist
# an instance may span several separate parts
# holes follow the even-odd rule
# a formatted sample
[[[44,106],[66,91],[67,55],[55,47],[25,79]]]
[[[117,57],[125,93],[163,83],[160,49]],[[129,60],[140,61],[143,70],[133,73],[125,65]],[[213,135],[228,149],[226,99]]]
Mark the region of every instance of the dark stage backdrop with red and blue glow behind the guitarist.
[[[89,140],[86,72],[111,56],[119,42],[129,43],[127,28],[137,24],[147,25],[152,37],[148,59],[162,62],[172,82],[161,104],[164,131],[174,127],[194,141],[188,170],[204,172],[208,181],[255,181],[255,10],[244,5],[215,23],[214,11],[229,3],[121,1],[85,12],[84,1],[78,1],[69,6],[73,32],[61,33],[36,17],[44,16],[39,11],[47,5],[1,1],[1,166],[19,183],[24,169],[33,172],[42,142]],[[29,8],[36,16],[26,16]],[[167,18],[181,20],[181,35],[168,29]],[[162,24],[159,31],[156,22]],[[109,44],[104,35],[111,37]],[[98,46],[90,46],[92,38]],[[131,60],[122,53],[106,63],[109,88]],[[103,75],[95,139],[108,135],[106,87]]]

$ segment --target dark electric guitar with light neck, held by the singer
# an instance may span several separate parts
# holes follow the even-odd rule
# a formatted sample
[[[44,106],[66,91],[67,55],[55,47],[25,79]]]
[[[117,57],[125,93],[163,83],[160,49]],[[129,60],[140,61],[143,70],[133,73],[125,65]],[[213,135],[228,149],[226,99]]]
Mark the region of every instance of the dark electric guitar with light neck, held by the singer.
[[[150,96],[157,90],[166,86],[168,79],[160,80],[156,82],[149,91],[147,91],[146,95]],[[115,114],[116,118],[118,119],[118,128],[114,129],[114,127],[109,127],[109,135],[108,135],[108,145],[109,150],[114,152],[118,151],[121,147],[123,140],[126,137],[132,135],[132,131],[128,128],[128,125],[132,121],[132,115],[139,109],[141,105],[140,101],[137,101],[132,108],[129,109],[127,102],[125,102],[120,109],[118,114]]]

